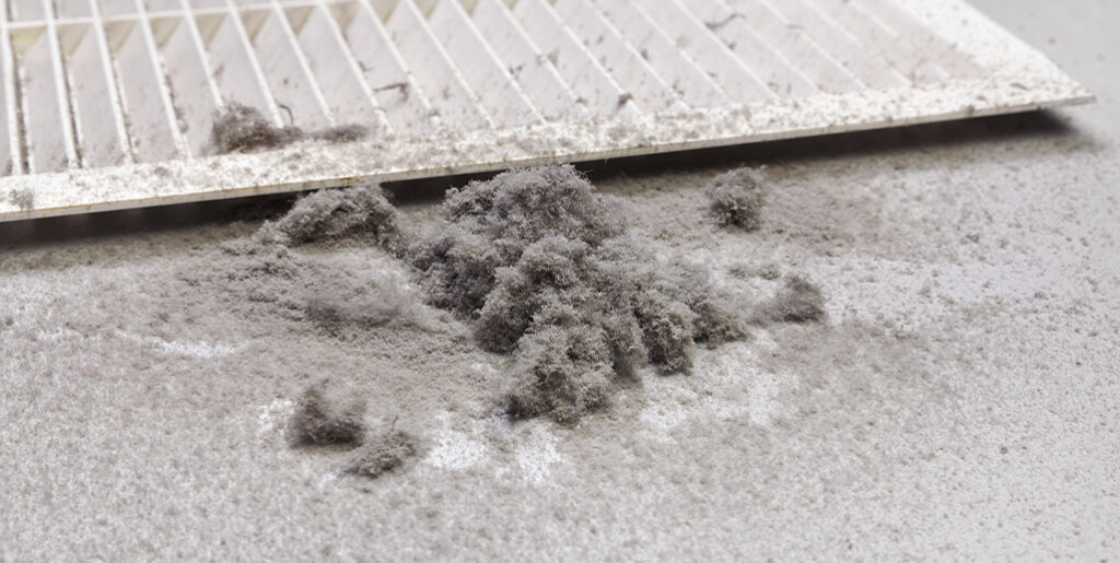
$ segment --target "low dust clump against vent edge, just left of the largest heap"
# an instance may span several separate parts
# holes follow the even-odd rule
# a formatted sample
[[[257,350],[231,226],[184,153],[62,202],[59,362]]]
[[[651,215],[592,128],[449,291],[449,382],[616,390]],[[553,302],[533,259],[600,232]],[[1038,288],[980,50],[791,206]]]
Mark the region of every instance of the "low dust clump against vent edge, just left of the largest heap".
[[[258,238],[284,245],[364,237],[399,253],[400,212],[377,184],[362,181],[345,189],[324,189],[300,198],[291,210],[261,227]]]

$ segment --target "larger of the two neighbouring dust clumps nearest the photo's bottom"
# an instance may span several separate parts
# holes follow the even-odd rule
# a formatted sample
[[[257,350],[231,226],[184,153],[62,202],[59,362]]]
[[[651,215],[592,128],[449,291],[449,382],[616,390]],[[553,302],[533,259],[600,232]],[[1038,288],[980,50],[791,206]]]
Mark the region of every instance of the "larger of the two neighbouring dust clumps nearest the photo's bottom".
[[[324,396],[325,387],[326,382],[308,387],[296,403],[296,411],[284,429],[291,447],[355,447],[365,437],[365,423],[362,422],[365,405],[354,403],[339,407]]]

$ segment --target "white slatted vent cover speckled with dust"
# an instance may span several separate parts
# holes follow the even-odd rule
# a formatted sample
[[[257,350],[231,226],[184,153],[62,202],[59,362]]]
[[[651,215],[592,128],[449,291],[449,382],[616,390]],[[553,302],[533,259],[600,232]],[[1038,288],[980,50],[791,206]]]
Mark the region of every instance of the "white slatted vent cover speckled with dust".
[[[1092,96],[962,0],[6,0],[0,220]],[[207,156],[213,114],[367,140]]]

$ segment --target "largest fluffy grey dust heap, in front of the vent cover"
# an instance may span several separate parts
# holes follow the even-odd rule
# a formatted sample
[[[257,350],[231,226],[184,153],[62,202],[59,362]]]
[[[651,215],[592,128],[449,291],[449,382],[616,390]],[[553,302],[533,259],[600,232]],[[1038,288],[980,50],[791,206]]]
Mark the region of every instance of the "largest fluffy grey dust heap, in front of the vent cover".
[[[622,201],[570,166],[470,182],[442,210],[408,254],[430,303],[515,354],[511,416],[575,422],[637,366],[688,372],[694,343],[744,336],[704,271],[628,236]]]

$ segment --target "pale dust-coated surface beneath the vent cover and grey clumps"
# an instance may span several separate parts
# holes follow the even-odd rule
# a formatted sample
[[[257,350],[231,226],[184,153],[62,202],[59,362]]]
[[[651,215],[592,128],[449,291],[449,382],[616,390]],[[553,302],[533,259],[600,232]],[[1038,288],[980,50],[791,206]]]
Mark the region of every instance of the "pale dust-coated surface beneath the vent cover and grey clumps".
[[[438,311],[338,334],[189,282],[282,201],[0,226],[0,560],[1120,554],[1120,7],[978,3],[1100,102],[586,167],[663,252],[744,295],[806,274],[828,320],[573,429],[491,416],[503,359]],[[769,166],[757,233],[700,210],[740,162]],[[306,252],[416,291],[380,250]],[[289,449],[325,375],[421,454],[367,480]]]

